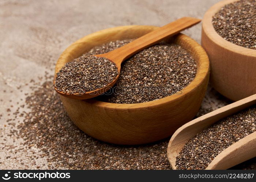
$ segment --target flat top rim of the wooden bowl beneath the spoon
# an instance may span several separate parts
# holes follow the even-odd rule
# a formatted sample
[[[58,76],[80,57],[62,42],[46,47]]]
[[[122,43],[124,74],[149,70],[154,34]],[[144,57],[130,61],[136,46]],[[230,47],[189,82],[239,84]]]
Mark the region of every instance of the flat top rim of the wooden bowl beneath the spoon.
[[[137,28],[137,29],[151,28],[153,30],[153,29],[158,28],[158,27],[148,26],[148,25],[127,25],[127,26],[120,26],[120,27],[113,27],[113,28],[103,29],[103,30],[91,33],[87,36],[84,36],[81,39],[72,43],[60,55],[60,57],[59,57],[59,59],[57,60],[57,63],[56,63],[55,75],[60,70],[60,69],[57,68],[57,65],[62,64],[62,62],[65,62],[65,58],[67,57],[68,52],[75,49],[75,47],[79,46],[80,43],[86,42],[89,39],[94,39],[95,37],[97,37],[99,35],[102,36],[103,34],[106,34],[106,33],[112,32],[112,31],[113,32],[118,32],[119,30],[121,31],[121,30],[124,30],[124,29],[132,29],[132,28]],[[185,98],[186,95],[189,92],[195,91],[196,88],[200,86],[200,84],[203,82],[204,79],[207,79],[208,73],[210,71],[210,63],[209,63],[208,56],[207,56],[206,52],[204,51],[203,47],[200,44],[198,44],[195,40],[193,40],[192,38],[190,38],[190,37],[188,37],[184,34],[181,34],[181,33],[180,33],[180,35],[178,35],[177,38],[181,39],[181,40],[184,39],[184,40],[188,41],[188,43],[192,47],[192,50],[195,51],[195,52],[200,53],[200,54],[198,54],[198,58],[197,58],[197,73],[196,73],[196,76],[192,80],[192,82],[189,83],[189,85],[187,87],[185,87],[181,90],[182,94],[180,94],[180,95],[173,94],[173,95],[167,96],[167,97],[162,98],[162,99],[153,100],[153,101],[149,101],[149,102],[143,102],[143,103],[133,103],[133,104],[108,103],[108,102],[99,101],[99,100],[96,100],[96,99],[93,99],[93,98],[82,100],[82,101],[94,104],[95,106],[98,106],[98,107],[118,108],[118,109],[136,109],[136,108],[158,106],[159,104],[165,104],[165,103],[169,103],[171,101],[173,102],[174,100],[177,100],[177,99],[180,99],[180,98]]]

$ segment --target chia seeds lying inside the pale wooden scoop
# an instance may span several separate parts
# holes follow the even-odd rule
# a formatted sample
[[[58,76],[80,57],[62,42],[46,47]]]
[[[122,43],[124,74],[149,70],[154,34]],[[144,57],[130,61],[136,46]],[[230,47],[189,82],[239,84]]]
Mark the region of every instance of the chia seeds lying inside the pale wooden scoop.
[[[228,116],[190,139],[176,157],[177,169],[206,169],[223,150],[256,131],[256,106]]]

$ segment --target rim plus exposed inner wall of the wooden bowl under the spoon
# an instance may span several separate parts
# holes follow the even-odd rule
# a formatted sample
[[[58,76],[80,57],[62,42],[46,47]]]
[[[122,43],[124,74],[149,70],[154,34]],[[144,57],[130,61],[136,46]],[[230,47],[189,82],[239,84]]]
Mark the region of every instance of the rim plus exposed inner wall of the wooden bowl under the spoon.
[[[130,25],[130,26],[123,26],[123,27],[114,27],[105,29],[102,31],[98,31],[79,39],[78,41],[74,42],[69,46],[63,54],[61,54],[59,60],[57,61],[55,74],[59,72],[61,67],[65,65],[65,63],[78,58],[79,56],[83,55],[84,53],[91,50],[91,48],[95,46],[99,46],[104,43],[108,43],[110,41],[115,40],[125,40],[125,39],[132,39],[138,38],[146,33],[157,29],[158,27],[154,26],[143,26],[143,25]],[[196,60],[197,64],[197,73],[194,80],[181,91],[177,92],[176,94],[167,96],[162,99],[144,102],[144,103],[136,103],[136,104],[116,104],[116,103],[107,103],[102,102],[96,99],[87,99],[86,102],[92,102],[94,104],[98,104],[103,107],[120,107],[120,108],[127,108],[127,107],[148,107],[158,104],[166,103],[170,100],[177,99],[181,96],[184,96],[188,92],[195,90],[196,87],[200,85],[200,83],[207,79],[209,73],[209,60],[206,52],[203,48],[193,39],[183,34],[178,34],[170,39],[166,40],[167,42],[173,42],[181,47],[185,48],[189,51],[194,59]]]

